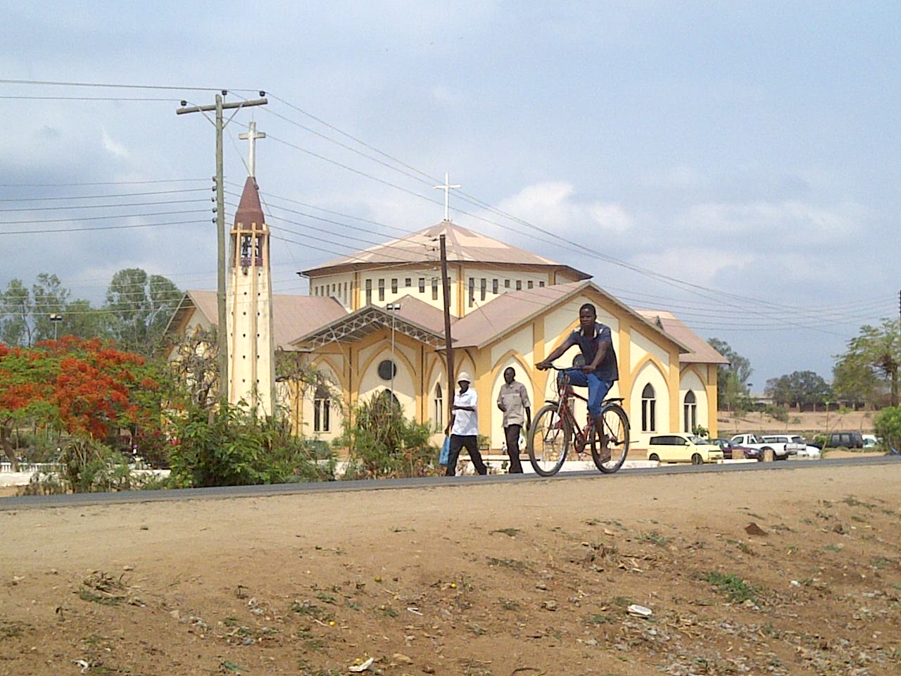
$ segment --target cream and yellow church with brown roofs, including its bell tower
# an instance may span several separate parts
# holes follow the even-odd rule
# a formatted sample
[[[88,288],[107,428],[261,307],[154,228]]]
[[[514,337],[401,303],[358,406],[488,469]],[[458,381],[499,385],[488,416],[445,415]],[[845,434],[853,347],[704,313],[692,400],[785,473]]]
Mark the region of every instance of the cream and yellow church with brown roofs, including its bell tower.
[[[248,204],[256,192],[252,179],[245,196],[249,190]],[[303,361],[332,383],[331,388],[277,388],[278,403],[290,412],[297,434],[331,441],[341,434],[350,407],[387,390],[405,416],[431,425],[435,443],[441,442],[455,386],[447,380],[443,356],[441,235],[455,372],[472,375],[480,434],[489,448],[500,449],[504,442],[503,414],[496,407],[504,370],[514,368],[536,413],[554,396],[554,383],[552,371],[536,370],[534,364],[578,327],[578,307],[586,302],[596,306],[598,321],[613,334],[620,380],[609,396],[623,397],[633,449],[641,453],[652,434],[691,432],[696,426],[716,434],[716,372],[726,361],[678,317],[627,306],[586,272],[450,220],[305,269],[300,274],[309,280],[307,296],[275,295],[267,305],[268,238],[257,200],[252,215],[239,208],[232,230],[230,335],[235,341],[239,333],[253,338],[243,343],[239,366],[262,361],[260,352],[270,342],[277,361]],[[260,274],[263,258],[265,275]],[[250,312],[246,322],[239,315],[245,311]],[[168,333],[172,338],[215,323],[214,292],[188,291]],[[571,349],[560,364],[569,366],[577,354]],[[236,358],[232,355],[232,363]],[[259,380],[260,396],[271,387],[268,371],[241,374],[235,370],[230,376],[232,389],[235,378],[244,386]],[[585,415],[582,408],[578,416]]]

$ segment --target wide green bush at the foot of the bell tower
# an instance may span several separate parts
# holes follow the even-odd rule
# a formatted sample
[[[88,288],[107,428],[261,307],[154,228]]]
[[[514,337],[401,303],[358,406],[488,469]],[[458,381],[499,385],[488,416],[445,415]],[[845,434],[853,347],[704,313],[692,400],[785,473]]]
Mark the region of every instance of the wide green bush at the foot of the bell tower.
[[[282,417],[252,416],[240,407],[217,413],[191,407],[175,423],[169,452],[176,488],[249,486],[334,479],[334,458],[317,457],[313,443],[291,434]]]

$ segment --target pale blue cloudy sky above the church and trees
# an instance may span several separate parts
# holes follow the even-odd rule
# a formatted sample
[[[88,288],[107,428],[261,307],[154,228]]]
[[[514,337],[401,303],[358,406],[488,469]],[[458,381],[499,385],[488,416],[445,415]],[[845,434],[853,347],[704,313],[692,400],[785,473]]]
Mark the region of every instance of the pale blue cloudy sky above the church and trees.
[[[50,272],[100,304],[134,267],[215,288],[214,127],[175,111],[226,89],[268,98],[226,127],[224,167],[239,194],[238,134],[256,121],[264,210],[283,228],[277,293],[441,221],[432,187],[449,172],[455,223],[723,339],[755,393],[794,370],[830,380],[860,325],[898,315],[894,3],[36,0],[4,14],[2,288]]]

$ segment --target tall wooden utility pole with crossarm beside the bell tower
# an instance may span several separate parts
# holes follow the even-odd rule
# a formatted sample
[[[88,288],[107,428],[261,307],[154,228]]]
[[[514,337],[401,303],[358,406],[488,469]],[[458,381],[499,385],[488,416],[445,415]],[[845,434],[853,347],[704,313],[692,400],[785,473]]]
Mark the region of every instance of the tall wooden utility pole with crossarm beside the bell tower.
[[[232,122],[234,116],[238,114],[238,110],[241,110],[241,108],[249,107],[250,105],[268,104],[268,100],[265,98],[225,104],[223,103],[223,96],[226,96],[227,94],[228,90],[226,89],[223,89],[222,94],[217,94],[214,105],[192,105],[185,107],[187,106],[187,101],[182,101],[182,107],[176,110],[177,115],[202,113],[207,120],[210,120],[210,118],[207,117],[206,113],[215,112],[216,114],[215,122],[212,120],[210,120],[210,122],[213,122],[213,125],[216,128],[216,217],[213,222],[216,224],[216,249],[219,256],[216,288],[216,299],[218,301],[217,305],[219,306],[219,326],[216,328],[216,337],[219,348],[219,398],[223,404],[228,403],[228,315],[225,309],[225,186],[223,175],[223,128],[225,125]],[[259,96],[266,96],[266,92],[259,92]],[[223,110],[231,108],[235,108],[235,112],[232,113],[228,122],[223,123]]]

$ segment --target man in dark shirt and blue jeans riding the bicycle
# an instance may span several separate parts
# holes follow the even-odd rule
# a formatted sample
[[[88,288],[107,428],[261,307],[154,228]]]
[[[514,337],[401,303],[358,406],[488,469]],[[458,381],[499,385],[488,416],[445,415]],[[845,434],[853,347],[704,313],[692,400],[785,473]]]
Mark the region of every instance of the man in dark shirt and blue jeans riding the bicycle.
[[[619,379],[619,369],[616,366],[616,352],[610,335],[610,327],[597,321],[595,306],[591,303],[578,308],[577,331],[569,333],[566,340],[555,347],[544,361],[535,364],[535,368],[546,370],[551,368],[554,361],[573,345],[578,345],[585,360],[583,366],[560,371],[557,379],[569,378],[572,385],[588,388],[588,413],[595,421],[595,429],[603,430],[604,423],[601,419],[601,402],[604,401],[607,392]],[[601,436],[602,453],[609,457],[606,436]]]

